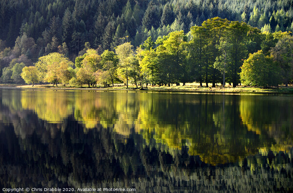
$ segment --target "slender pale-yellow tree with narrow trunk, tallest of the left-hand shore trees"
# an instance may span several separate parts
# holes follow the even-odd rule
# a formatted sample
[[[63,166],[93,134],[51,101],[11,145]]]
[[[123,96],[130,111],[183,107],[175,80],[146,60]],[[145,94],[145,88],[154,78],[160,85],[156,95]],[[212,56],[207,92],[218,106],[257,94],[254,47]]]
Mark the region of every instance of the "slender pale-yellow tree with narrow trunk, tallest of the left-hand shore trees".
[[[128,70],[130,67],[129,57],[133,55],[132,45],[130,42],[121,44],[115,48],[115,52],[118,55],[120,69],[124,76],[126,76],[126,88],[128,88]]]

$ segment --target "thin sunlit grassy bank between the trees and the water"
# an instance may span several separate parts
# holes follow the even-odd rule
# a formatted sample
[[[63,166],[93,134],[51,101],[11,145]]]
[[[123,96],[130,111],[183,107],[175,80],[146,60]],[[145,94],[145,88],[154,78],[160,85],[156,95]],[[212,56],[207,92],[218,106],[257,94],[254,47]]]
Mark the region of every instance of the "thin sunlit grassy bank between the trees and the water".
[[[70,85],[62,85],[59,84],[58,87],[56,85],[52,84],[38,84],[34,85],[16,85],[16,84],[0,84],[0,87],[2,88],[25,88],[25,89],[85,89],[85,90],[138,90],[136,89],[135,85],[129,85],[129,88],[126,89],[126,86],[124,84],[114,84],[114,87],[103,87],[103,86],[97,86],[97,87],[88,87],[87,85],[81,86],[75,86],[72,87]],[[147,88],[144,87],[144,90],[146,91],[160,91],[160,92],[225,92],[225,93],[287,93],[287,94],[293,94],[293,86],[285,87],[280,86],[279,88],[258,88],[258,87],[249,87],[249,86],[237,86],[236,88],[233,88],[230,85],[226,85],[225,88],[222,88],[221,86],[216,86],[215,88],[212,88],[211,85],[209,87],[200,87],[197,83],[188,83],[185,86],[148,86]]]

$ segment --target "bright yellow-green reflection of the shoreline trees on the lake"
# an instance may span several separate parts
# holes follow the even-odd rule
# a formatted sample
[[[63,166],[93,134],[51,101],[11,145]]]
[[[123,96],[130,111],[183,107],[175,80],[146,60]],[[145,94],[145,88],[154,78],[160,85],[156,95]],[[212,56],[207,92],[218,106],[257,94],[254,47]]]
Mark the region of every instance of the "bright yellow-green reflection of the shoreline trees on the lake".
[[[134,132],[143,136],[146,145],[155,141],[169,150],[187,147],[189,155],[199,155],[212,165],[236,162],[258,152],[284,151],[293,144],[292,102],[285,99],[17,90],[2,92],[2,104],[9,109],[9,116],[3,113],[0,119],[13,123],[16,134],[22,138],[39,127],[31,123],[38,122],[29,115],[33,111],[44,120],[51,135],[63,131],[63,121],[72,117],[83,124],[86,132],[108,128],[124,138]]]

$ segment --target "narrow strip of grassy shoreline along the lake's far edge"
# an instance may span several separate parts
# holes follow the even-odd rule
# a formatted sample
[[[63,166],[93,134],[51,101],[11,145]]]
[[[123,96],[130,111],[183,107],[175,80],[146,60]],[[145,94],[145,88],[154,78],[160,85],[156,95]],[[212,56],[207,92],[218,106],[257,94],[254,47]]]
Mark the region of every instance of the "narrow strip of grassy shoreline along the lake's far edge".
[[[233,87],[216,87],[216,88],[208,88],[208,87],[199,87],[199,86],[149,86],[140,90],[139,88],[129,87],[126,89],[125,86],[114,86],[114,87],[69,87],[69,86],[53,86],[52,84],[46,85],[35,85],[32,87],[31,85],[13,85],[13,84],[0,84],[0,88],[7,89],[52,89],[52,90],[87,90],[87,91],[130,91],[130,92],[158,92],[158,93],[211,93],[211,94],[286,94],[293,95],[293,87],[280,87],[280,88],[271,88],[271,89],[263,89],[257,87],[244,87],[238,86],[236,88]]]

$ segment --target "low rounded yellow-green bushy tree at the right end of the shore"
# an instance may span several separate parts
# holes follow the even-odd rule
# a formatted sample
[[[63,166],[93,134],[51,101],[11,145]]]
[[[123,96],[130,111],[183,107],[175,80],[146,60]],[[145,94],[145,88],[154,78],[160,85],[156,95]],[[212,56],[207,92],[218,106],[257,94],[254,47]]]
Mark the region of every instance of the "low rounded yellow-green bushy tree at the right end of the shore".
[[[278,86],[280,67],[271,56],[265,56],[260,50],[250,54],[241,67],[241,81],[250,86]]]

